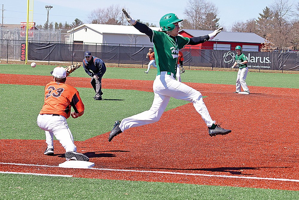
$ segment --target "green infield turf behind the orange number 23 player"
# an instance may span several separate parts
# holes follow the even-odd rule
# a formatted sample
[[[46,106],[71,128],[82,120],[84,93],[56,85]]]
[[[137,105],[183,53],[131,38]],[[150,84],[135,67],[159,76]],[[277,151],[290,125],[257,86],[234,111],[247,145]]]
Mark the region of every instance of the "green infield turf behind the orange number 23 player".
[[[44,86],[0,84],[0,139],[45,139],[36,124],[44,103]],[[102,101],[93,99],[92,88],[77,88],[84,103],[84,114],[68,118],[75,141],[111,131],[116,120],[149,110],[154,99],[152,92],[103,89]],[[182,106],[188,101],[170,99],[166,108]]]

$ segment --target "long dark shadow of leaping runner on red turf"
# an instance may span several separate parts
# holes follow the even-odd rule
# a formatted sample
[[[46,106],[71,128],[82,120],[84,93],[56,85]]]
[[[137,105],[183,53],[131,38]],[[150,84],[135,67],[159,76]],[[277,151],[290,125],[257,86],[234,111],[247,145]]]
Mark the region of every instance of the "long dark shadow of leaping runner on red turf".
[[[254,175],[254,174],[242,174],[242,171],[240,170],[259,170],[262,168],[291,168],[291,167],[216,167],[216,168],[198,168],[198,169],[129,167],[126,169],[168,169],[168,170],[207,171],[207,172],[229,172],[230,174],[234,174],[234,175]]]

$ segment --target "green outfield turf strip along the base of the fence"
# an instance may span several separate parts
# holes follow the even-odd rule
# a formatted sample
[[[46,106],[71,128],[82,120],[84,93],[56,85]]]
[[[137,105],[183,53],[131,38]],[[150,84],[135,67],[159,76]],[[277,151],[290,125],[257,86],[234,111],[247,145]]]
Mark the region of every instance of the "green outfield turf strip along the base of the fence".
[[[28,74],[50,76],[54,65],[37,65],[32,68],[25,64],[0,64],[0,73]],[[103,78],[105,79],[128,79],[128,80],[154,80],[157,74],[156,69],[150,69],[144,73],[145,68],[130,67],[107,67]],[[89,77],[81,66],[74,73],[74,77]],[[215,71],[215,70],[186,70],[181,74],[182,82],[212,83],[235,85],[237,71]],[[248,86],[264,86],[277,88],[299,88],[297,80],[299,74],[289,73],[262,73],[248,72],[246,83]],[[105,86],[103,86],[105,87]]]

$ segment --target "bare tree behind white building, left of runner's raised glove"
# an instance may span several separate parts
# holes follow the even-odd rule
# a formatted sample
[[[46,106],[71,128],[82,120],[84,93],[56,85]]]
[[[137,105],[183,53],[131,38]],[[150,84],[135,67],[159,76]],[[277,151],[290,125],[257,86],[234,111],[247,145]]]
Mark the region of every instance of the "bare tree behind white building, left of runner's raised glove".
[[[107,8],[98,8],[89,15],[89,22],[93,24],[127,24],[119,4],[112,4]]]

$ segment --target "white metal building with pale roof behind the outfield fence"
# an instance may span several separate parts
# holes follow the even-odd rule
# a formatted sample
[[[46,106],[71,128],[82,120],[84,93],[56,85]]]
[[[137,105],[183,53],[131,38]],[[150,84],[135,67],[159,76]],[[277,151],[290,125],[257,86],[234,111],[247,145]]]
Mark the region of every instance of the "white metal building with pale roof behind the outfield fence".
[[[159,27],[150,27],[158,30]],[[67,42],[102,44],[148,44],[152,45],[146,34],[131,25],[82,24],[69,30]]]

